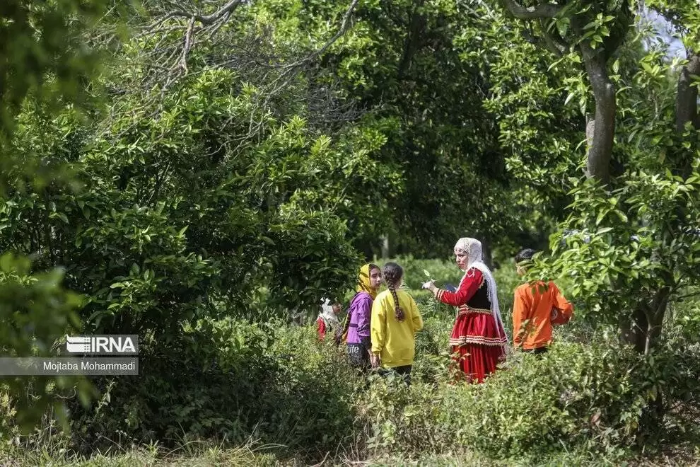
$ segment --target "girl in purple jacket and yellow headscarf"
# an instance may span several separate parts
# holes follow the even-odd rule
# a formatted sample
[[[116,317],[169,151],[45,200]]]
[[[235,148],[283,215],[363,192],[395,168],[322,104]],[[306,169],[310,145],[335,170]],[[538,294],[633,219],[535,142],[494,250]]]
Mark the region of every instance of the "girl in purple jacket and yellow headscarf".
[[[381,284],[382,272],[377,265],[370,263],[361,267],[357,293],[348,308],[348,358],[350,364],[363,371],[370,368],[372,304]]]

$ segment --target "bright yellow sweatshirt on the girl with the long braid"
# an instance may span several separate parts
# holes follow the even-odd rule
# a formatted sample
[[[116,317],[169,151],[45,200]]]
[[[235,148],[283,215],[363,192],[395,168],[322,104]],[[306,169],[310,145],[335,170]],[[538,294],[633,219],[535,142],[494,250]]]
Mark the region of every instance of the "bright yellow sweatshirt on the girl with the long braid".
[[[403,290],[396,291],[404,321],[397,321],[394,297],[385,290],[372,305],[372,352],[380,354],[384,367],[412,365],[416,354],[416,333],[423,329],[423,317],[413,297]]]

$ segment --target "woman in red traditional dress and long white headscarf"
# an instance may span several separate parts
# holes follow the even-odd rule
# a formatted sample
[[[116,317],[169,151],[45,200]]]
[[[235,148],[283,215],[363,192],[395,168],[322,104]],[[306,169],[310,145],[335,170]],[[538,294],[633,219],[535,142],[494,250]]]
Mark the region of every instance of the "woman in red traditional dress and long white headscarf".
[[[482,262],[482,243],[475,238],[460,238],[455,257],[457,266],[465,271],[456,292],[438,289],[433,282],[423,287],[443,304],[458,307],[450,335],[453,358],[468,381],[481,383],[506,357],[508,338],[498,308],[496,281]]]

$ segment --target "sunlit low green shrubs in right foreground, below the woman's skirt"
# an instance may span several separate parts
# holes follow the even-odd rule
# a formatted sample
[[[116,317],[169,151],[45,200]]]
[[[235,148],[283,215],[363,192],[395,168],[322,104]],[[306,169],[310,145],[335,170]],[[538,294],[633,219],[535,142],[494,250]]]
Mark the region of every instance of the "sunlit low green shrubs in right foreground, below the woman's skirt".
[[[587,345],[559,343],[541,357],[518,352],[481,385],[448,384],[446,358],[431,362],[441,371],[425,383],[421,356],[410,388],[382,381],[366,394],[369,445],[406,455],[468,446],[494,459],[581,449],[615,457],[635,442],[651,449],[650,442],[669,439],[668,427],[692,426],[674,415],[679,404],[694,408],[679,413],[699,407],[692,348],[645,359],[599,333]]]

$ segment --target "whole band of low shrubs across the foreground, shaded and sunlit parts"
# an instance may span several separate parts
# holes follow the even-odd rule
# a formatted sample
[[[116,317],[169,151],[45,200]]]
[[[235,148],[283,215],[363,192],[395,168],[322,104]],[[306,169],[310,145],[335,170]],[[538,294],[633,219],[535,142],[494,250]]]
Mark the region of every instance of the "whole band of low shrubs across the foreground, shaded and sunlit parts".
[[[556,329],[548,354],[515,353],[478,386],[450,376],[453,309],[434,300],[420,306],[425,325],[410,387],[378,376],[366,384],[342,347],[317,342],[314,325],[201,320],[169,345],[145,339],[141,376],[97,379],[98,405],[83,411],[75,403],[66,452],[254,439],[314,462],[328,452],[437,459],[466,450],[539,463],[562,453],[614,460],[627,446],[650,450],[697,430],[700,348],[697,335],[681,332],[693,306],[675,310],[650,357],[575,320]],[[45,439],[24,444],[40,449]]]

